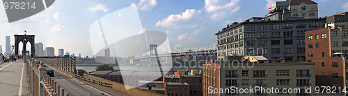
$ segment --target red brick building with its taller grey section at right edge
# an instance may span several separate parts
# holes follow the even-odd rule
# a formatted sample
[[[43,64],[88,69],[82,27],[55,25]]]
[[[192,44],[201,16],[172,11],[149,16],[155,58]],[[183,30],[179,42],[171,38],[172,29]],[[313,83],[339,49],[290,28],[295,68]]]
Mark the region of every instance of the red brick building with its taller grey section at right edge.
[[[306,61],[315,62],[316,86],[345,86],[348,12],[331,15],[327,28],[305,32]]]

